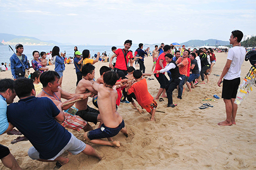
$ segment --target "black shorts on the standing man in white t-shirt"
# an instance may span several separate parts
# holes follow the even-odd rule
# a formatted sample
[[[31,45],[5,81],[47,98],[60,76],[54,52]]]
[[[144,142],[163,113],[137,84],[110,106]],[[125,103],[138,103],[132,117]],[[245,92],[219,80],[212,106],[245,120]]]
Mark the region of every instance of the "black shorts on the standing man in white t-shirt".
[[[222,98],[230,100],[237,97],[237,89],[240,84],[240,77],[233,80],[223,80]]]

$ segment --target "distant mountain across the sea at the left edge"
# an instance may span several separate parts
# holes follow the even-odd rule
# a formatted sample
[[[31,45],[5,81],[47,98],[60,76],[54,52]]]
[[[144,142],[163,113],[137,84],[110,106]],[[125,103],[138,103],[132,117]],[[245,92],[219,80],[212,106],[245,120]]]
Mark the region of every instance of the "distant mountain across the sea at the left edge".
[[[5,44],[15,45],[21,43],[23,45],[73,45],[71,43],[58,43],[55,41],[42,41],[35,37],[18,36],[13,34],[0,33],[0,41],[4,40]],[[1,44],[0,44],[1,45]]]

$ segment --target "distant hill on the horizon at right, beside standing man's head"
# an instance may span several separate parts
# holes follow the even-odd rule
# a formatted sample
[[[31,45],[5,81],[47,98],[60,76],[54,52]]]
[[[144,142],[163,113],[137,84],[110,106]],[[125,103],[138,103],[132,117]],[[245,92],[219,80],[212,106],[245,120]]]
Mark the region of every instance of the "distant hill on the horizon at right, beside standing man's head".
[[[216,39],[209,39],[209,40],[190,40],[184,43],[180,43],[180,45],[196,47],[196,46],[218,46],[218,45],[229,45],[229,41],[221,41]]]

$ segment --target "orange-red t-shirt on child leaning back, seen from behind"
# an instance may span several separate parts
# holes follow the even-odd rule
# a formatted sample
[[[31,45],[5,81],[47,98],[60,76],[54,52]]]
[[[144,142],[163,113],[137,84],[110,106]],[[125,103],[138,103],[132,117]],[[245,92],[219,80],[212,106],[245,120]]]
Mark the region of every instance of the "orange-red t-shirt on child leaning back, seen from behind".
[[[128,89],[128,92],[134,93],[138,103],[143,107],[151,104],[154,97],[152,97],[147,90],[147,81],[142,79],[139,82],[134,83],[131,88]]]

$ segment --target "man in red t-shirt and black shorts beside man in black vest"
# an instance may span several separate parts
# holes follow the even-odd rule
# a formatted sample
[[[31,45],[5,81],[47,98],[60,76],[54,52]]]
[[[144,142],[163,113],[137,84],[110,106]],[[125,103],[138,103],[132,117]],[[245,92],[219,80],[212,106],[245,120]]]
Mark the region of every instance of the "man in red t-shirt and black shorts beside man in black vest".
[[[171,46],[169,45],[165,45],[164,46],[164,53],[162,53],[157,61],[156,61],[156,68],[155,68],[155,71],[156,72],[157,70],[161,70],[161,69],[164,69],[166,67],[166,60],[165,60],[165,55],[166,54],[170,54],[171,53]],[[167,97],[165,95],[166,93],[166,90],[165,90],[165,87],[166,85],[168,84],[169,80],[167,79],[167,77],[165,76],[165,73],[159,73],[159,74],[154,74],[158,83],[160,84],[160,88],[158,90],[158,93],[155,97],[155,100],[158,100],[161,93],[162,93],[162,96],[161,97]]]

